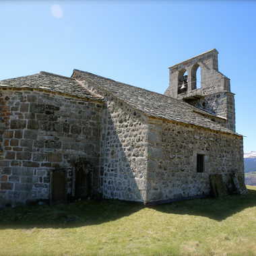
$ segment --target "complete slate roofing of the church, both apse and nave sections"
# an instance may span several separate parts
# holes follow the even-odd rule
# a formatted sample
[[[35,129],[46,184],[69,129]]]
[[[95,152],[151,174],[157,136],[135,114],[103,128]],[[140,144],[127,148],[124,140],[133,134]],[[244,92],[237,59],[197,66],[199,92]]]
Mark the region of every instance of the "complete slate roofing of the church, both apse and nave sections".
[[[195,108],[182,100],[177,100],[163,94],[150,92],[143,88],[123,84],[113,79],[77,69],[74,69],[72,77],[65,77],[41,71],[34,75],[4,79],[0,81],[0,88],[32,88],[69,94],[79,98],[88,98],[92,100],[103,99],[102,96],[94,94],[86,89],[81,83],[82,81],[90,86],[94,86],[94,88],[113,94],[113,96],[127,102],[127,104],[131,105],[133,108],[141,110],[150,117],[158,117],[197,125],[207,129],[214,129],[225,133],[237,134],[212,121],[211,119],[214,115],[199,110],[199,108]]]

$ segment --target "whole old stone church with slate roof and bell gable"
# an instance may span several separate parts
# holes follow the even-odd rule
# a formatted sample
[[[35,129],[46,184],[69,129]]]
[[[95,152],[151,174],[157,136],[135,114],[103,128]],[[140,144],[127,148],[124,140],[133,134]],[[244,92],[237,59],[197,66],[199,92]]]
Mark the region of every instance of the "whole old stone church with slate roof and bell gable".
[[[218,51],[169,69],[164,94],[77,69],[2,80],[0,205],[168,202],[210,195],[214,175],[227,193],[245,191],[243,136]]]

